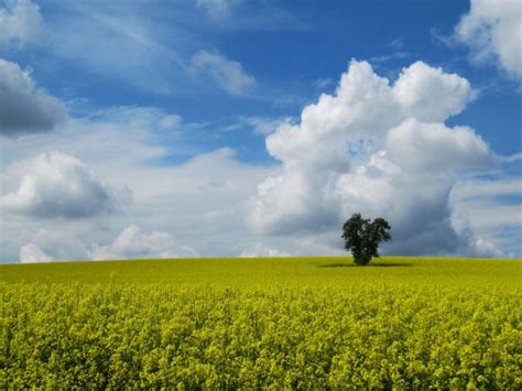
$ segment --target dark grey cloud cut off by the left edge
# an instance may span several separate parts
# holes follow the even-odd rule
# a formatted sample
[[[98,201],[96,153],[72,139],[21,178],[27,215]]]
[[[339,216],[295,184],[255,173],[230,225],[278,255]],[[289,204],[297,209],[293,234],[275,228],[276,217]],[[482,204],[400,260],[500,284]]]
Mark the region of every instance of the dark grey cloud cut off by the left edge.
[[[0,134],[54,128],[66,116],[64,105],[37,88],[28,70],[0,58]]]

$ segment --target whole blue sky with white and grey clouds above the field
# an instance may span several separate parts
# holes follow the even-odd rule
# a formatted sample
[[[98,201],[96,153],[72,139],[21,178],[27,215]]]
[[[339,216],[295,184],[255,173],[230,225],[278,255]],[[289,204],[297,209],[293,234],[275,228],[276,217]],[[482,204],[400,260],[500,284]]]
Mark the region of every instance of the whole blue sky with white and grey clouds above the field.
[[[0,262],[522,257],[522,3],[0,0]]]

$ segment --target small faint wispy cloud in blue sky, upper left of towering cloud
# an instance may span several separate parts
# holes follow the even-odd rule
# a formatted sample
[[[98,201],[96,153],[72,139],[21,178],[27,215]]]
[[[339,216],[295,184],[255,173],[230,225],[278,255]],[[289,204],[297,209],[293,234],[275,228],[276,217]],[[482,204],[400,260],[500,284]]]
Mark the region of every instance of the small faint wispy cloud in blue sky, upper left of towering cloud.
[[[230,95],[243,95],[255,85],[255,78],[247,74],[240,63],[217,52],[199,51],[193,55],[191,64]]]

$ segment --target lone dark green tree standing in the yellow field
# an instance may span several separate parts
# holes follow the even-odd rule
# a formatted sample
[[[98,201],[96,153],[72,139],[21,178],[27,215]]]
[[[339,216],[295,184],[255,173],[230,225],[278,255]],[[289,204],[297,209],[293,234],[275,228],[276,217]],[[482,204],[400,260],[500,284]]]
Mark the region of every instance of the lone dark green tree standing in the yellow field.
[[[371,257],[379,258],[379,243],[391,239],[390,225],[381,217],[370,222],[354,214],[342,226],[345,249],[351,250],[357,264],[368,264]]]

